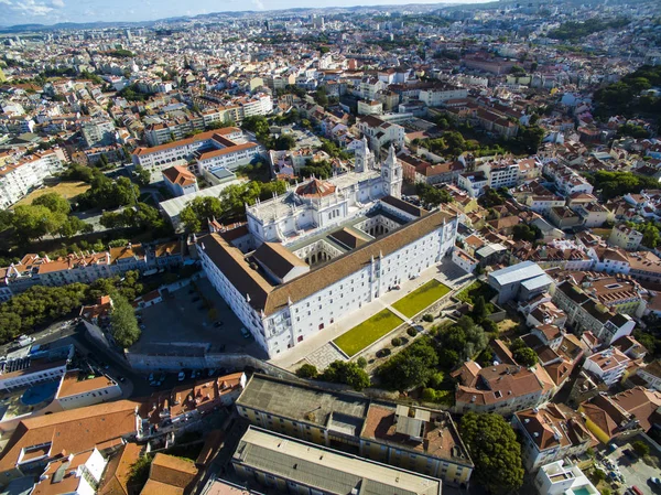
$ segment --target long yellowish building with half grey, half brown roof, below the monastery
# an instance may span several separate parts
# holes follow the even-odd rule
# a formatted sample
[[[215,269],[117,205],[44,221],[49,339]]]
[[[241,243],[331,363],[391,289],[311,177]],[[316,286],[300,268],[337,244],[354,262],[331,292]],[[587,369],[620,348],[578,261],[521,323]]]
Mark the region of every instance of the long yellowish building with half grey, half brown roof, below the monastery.
[[[267,392],[268,390],[268,392]],[[253,375],[236,402],[251,424],[467,486],[473,462],[449,415]]]

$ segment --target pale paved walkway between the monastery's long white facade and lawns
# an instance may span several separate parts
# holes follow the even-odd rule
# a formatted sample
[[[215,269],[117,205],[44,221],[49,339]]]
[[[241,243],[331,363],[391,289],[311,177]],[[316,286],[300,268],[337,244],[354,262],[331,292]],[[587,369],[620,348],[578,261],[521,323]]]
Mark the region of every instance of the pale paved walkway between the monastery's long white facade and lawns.
[[[455,287],[465,283],[467,279],[473,279],[473,276],[468,276],[467,273],[463,272],[449,260],[444,261],[441,265],[430,267],[423,271],[420,277],[403,282],[401,284],[401,289],[387,292],[379,299],[365,304],[360,310],[336,321],[333,325],[321,331],[316,335],[307,337],[293,349],[286,352],[283,356],[278,356],[271,359],[270,363],[285,369],[296,368],[297,366],[294,365],[303,364],[302,362],[306,356],[319,349],[328,342],[334,341],[356,325],[362,323],[365,320],[373,316],[383,309],[392,311],[404,322],[411,323],[410,319],[399,313],[397,310],[393,310],[391,304],[433,279],[436,279],[440,282],[448,286],[451,289],[454,289]]]

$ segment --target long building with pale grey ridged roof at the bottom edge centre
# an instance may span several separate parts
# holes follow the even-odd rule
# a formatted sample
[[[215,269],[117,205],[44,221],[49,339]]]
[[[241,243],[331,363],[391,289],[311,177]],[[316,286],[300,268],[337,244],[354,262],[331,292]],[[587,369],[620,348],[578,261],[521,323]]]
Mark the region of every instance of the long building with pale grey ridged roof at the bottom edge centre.
[[[441,495],[440,480],[249,427],[231,458],[242,478],[281,493]]]

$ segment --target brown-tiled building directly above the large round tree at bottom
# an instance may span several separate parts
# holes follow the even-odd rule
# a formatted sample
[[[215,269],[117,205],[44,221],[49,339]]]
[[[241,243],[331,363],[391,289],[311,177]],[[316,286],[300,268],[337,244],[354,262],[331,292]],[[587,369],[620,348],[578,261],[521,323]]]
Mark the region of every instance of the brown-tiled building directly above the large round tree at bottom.
[[[462,415],[474,411],[509,416],[546,402],[555,389],[541,366],[528,369],[498,364],[483,368],[469,361],[452,376],[458,381],[454,411]]]

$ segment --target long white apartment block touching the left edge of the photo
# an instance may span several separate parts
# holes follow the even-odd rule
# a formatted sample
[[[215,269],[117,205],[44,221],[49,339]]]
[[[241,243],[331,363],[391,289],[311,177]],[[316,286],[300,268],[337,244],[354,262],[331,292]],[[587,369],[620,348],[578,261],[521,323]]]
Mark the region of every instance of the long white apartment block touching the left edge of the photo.
[[[0,208],[8,208],[61,170],[62,160],[55,150],[36,152],[17,163],[6,163],[0,168]]]

